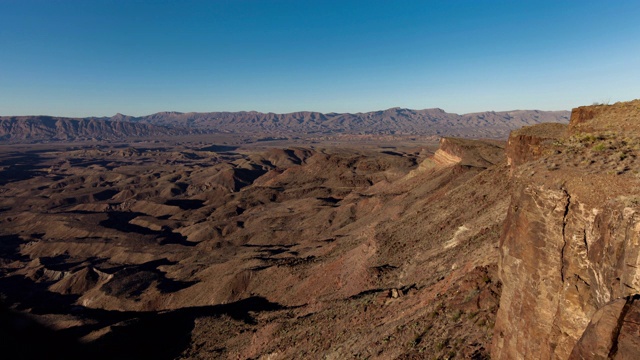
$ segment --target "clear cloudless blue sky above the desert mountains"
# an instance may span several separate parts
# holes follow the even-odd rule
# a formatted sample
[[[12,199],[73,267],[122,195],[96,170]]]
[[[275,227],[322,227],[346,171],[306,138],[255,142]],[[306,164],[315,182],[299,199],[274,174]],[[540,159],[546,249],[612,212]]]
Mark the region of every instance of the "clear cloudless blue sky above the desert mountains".
[[[0,0],[0,115],[634,98],[637,0]]]

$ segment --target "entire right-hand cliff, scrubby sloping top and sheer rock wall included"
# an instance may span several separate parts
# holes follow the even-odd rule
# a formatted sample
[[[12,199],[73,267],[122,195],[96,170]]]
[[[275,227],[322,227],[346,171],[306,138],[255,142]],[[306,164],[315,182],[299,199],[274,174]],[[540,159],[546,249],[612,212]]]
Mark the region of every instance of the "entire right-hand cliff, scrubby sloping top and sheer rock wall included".
[[[517,190],[500,242],[493,359],[629,358],[640,349],[639,110],[638,101],[583,107],[568,129],[510,137]]]

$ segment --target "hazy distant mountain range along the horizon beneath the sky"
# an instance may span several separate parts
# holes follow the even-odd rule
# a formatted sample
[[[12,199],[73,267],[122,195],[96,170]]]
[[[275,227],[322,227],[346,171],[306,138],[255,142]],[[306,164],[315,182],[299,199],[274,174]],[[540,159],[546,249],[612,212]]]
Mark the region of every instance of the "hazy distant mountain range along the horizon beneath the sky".
[[[458,115],[442,109],[392,108],[367,113],[255,111],[180,113],[159,112],[134,117],[102,118],[50,116],[0,117],[0,140],[110,140],[192,133],[237,133],[278,136],[308,134],[396,134],[472,138],[506,138],[522,126],[569,121],[569,111],[516,110]]]

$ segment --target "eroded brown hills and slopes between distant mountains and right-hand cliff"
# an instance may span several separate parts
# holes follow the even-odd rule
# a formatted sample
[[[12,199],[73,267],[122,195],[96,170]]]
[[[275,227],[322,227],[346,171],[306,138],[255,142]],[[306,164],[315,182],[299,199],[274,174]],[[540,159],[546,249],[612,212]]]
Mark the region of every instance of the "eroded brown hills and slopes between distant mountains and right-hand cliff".
[[[36,324],[9,322],[9,346],[80,358],[488,356],[510,188],[500,143],[444,139],[436,155],[212,149],[3,153],[0,292],[12,317]],[[43,331],[55,336],[29,338]],[[25,346],[43,339],[54,340]]]

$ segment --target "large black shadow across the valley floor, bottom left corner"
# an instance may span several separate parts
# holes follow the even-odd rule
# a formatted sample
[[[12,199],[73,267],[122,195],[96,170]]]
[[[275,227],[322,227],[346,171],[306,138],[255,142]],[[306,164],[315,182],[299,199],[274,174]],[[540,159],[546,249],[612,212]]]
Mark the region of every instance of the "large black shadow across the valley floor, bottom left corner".
[[[69,304],[70,305],[70,304]],[[254,296],[230,304],[165,312],[134,312],[74,306],[72,314],[87,325],[50,329],[30,315],[0,304],[0,354],[21,359],[174,359],[191,342],[195,320],[230,316],[255,324],[251,313],[287,309]],[[93,331],[106,334],[89,343],[80,339]]]

